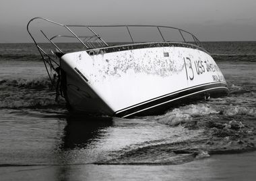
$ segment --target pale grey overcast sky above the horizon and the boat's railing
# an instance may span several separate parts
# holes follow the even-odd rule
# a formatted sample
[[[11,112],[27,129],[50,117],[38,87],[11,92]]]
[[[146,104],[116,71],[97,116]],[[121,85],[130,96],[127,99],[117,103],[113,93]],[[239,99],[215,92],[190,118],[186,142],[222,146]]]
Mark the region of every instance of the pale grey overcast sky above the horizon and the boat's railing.
[[[255,0],[1,0],[0,43],[32,42],[32,17],[65,24],[180,27],[201,41],[255,41]]]

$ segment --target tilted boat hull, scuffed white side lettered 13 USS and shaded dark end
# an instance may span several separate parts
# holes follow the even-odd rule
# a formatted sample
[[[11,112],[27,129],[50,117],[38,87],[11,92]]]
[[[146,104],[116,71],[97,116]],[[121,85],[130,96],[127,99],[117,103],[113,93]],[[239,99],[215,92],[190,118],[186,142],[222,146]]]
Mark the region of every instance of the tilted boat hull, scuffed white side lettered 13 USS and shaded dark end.
[[[224,76],[207,52],[189,44],[160,44],[64,54],[61,69],[71,108],[127,117],[196,95],[228,94]]]

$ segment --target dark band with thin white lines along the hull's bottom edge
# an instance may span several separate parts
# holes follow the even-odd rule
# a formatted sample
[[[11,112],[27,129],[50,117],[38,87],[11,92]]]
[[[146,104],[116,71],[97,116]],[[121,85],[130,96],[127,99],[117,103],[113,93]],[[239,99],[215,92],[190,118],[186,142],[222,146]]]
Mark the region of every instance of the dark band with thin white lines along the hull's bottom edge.
[[[205,84],[203,86],[197,86],[195,88],[187,88],[183,91],[177,91],[170,95],[164,95],[151,101],[141,103],[137,106],[122,109],[123,111],[117,111],[115,116],[117,117],[131,117],[142,115],[157,115],[164,113],[166,109],[171,107],[177,107],[192,103],[195,101],[202,101],[205,97],[216,98],[228,95],[227,85],[224,83]]]

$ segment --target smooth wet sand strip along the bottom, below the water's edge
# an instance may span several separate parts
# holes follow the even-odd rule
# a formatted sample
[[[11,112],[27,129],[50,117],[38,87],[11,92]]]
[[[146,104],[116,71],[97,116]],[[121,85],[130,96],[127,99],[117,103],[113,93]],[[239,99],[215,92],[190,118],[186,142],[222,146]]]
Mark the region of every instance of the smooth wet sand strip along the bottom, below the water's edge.
[[[255,180],[256,152],[216,155],[180,165],[2,166],[1,180]]]

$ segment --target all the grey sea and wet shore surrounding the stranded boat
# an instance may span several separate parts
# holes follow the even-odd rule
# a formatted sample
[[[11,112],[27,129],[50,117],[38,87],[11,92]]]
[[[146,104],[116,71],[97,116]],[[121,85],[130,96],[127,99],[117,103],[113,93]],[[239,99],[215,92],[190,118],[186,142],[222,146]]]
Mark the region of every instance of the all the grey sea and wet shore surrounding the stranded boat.
[[[121,119],[71,115],[34,44],[0,44],[0,180],[255,180],[256,42],[203,46],[228,97]]]

